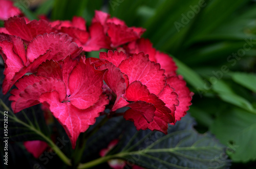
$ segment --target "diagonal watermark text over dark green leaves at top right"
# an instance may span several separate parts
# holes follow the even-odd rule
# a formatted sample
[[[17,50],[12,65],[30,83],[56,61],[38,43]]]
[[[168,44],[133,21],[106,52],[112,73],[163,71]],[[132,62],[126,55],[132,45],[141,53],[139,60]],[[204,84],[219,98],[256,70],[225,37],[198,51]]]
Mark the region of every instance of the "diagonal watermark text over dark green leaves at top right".
[[[207,4],[205,3],[204,0],[199,0],[198,5],[190,5],[189,8],[191,10],[189,10],[186,15],[184,13],[181,14],[182,18],[180,22],[175,21],[174,25],[177,29],[178,32],[180,32],[181,27],[185,27],[185,25],[187,25],[191,19],[193,19],[196,14],[198,14],[201,11],[201,8],[204,8]]]

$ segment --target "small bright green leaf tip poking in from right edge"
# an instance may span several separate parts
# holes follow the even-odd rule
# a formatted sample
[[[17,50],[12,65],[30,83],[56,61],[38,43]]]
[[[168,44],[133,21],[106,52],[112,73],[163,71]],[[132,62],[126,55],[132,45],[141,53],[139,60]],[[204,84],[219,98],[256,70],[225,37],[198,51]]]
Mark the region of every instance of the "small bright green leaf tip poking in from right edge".
[[[236,81],[243,87],[256,93],[256,75],[255,74],[235,72],[235,73],[231,73],[231,77],[234,81]]]

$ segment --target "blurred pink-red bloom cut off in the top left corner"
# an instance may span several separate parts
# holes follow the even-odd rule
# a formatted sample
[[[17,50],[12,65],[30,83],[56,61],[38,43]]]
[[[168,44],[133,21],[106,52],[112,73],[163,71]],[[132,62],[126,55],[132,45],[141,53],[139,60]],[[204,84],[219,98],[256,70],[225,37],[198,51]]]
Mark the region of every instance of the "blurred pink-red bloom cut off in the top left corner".
[[[0,4],[0,20],[6,20],[9,17],[21,14],[20,10],[14,7],[12,1],[0,0]]]

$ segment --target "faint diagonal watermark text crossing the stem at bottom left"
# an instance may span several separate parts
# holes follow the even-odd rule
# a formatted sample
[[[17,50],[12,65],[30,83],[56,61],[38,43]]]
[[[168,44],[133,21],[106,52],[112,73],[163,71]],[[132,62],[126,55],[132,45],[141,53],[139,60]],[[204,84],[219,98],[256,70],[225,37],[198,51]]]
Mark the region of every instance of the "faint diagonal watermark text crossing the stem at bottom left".
[[[66,140],[64,138],[64,136],[62,136],[62,138],[57,137],[57,142],[56,142],[56,146],[59,148],[59,150],[63,149],[64,146],[66,146],[67,143],[69,143],[70,140]],[[42,153],[39,156],[39,160],[43,163],[43,164],[47,164],[49,162],[49,159],[52,159],[53,156],[56,155],[56,152],[53,151],[53,149],[51,148],[49,151],[45,151],[44,153]],[[36,163],[33,166],[33,169],[41,169],[40,164]]]

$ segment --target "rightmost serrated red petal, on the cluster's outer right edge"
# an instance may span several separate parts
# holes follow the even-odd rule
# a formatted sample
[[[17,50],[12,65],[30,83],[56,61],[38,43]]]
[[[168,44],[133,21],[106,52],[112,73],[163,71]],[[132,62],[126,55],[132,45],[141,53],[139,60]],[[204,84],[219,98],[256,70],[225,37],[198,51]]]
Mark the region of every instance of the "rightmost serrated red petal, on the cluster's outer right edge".
[[[167,83],[170,87],[175,89],[175,92],[179,96],[179,105],[176,106],[175,111],[175,122],[181,120],[182,117],[186,115],[186,111],[189,109],[191,105],[193,92],[190,92],[188,87],[186,87],[186,82],[183,80],[182,76],[172,76],[167,78]],[[161,94],[160,94],[161,95]],[[160,97],[163,97],[161,95]],[[162,98],[164,100],[164,98]],[[168,101],[166,101],[167,105],[170,105]],[[172,123],[175,124],[175,123]]]

